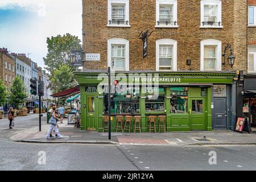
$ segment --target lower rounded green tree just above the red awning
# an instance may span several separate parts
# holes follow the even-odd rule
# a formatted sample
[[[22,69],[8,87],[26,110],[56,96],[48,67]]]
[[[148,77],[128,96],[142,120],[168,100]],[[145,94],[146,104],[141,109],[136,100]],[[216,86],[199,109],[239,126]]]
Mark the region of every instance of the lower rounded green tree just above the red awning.
[[[53,72],[50,84],[52,92],[61,92],[76,85],[77,82],[75,81],[75,75],[69,65],[63,64],[59,69],[56,69]]]

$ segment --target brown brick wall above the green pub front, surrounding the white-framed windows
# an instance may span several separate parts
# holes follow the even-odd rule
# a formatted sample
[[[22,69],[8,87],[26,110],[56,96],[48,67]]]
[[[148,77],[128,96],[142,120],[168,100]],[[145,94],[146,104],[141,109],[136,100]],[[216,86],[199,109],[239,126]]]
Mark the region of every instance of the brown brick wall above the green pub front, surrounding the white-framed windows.
[[[247,1],[222,1],[222,29],[200,28],[200,1],[179,0],[179,28],[155,28],[155,0],[130,0],[130,28],[106,27],[108,23],[108,1],[84,0],[83,39],[86,53],[101,53],[101,61],[85,61],[86,69],[107,68],[108,39],[123,38],[130,42],[130,71],[155,70],[155,44],[159,39],[177,41],[177,70],[188,70],[187,59],[192,60],[193,71],[200,71],[200,42],[217,39],[222,42],[222,52],[227,43],[232,44],[237,57],[233,69],[247,67]],[[142,59],[141,31],[149,30],[148,56]],[[222,70],[230,70],[228,64]]]

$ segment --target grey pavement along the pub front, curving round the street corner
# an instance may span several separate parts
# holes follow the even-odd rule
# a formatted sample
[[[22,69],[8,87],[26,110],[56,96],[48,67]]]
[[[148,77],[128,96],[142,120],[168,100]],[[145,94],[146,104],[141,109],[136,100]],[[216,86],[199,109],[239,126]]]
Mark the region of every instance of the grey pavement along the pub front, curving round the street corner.
[[[29,143],[87,143],[87,144],[131,144],[159,146],[202,146],[202,145],[256,145],[256,130],[252,133],[237,133],[229,130],[189,131],[170,133],[107,133],[84,131],[68,125],[67,120],[59,123],[62,139],[46,139],[49,125],[22,130],[10,137],[15,142]]]

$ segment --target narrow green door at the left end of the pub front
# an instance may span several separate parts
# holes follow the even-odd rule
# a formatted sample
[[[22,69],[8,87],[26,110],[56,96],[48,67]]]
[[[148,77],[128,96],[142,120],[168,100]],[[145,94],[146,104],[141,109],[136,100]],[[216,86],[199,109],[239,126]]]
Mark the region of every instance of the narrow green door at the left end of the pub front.
[[[96,96],[86,96],[86,123],[87,130],[96,130]]]

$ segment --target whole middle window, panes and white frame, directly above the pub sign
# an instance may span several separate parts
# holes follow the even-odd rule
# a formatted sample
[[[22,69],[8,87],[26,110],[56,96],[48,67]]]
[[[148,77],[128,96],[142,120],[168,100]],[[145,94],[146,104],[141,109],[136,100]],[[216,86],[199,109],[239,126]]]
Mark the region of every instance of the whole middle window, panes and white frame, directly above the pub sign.
[[[156,41],[156,71],[177,71],[177,42],[175,40]]]

